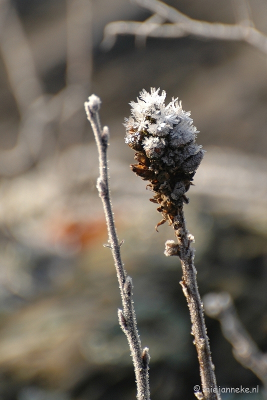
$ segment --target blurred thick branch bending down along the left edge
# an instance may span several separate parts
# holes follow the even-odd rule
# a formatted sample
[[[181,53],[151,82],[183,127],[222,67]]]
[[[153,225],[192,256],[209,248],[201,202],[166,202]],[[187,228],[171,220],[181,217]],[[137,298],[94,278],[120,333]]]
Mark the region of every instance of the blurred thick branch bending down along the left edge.
[[[0,3],[2,17],[0,51],[21,121],[16,145],[0,151],[0,173],[21,172],[36,161],[47,122],[47,96],[35,70],[33,56],[23,26],[12,3]]]

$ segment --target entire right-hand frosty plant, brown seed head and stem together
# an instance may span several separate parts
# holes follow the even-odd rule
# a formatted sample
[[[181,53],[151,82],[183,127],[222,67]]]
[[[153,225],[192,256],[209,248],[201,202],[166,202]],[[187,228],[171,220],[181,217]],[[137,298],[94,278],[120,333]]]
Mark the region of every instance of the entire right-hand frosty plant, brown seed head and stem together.
[[[195,143],[197,130],[190,112],[182,109],[177,98],[165,105],[165,96],[164,90],[159,94],[159,89],[152,87],[150,93],[143,89],[137,102],[130,102],[132,115],[125,119],[125,141],[135,150],[134,158],[138,161],[130,165],[131,170],[150,182],[148,186],[153,192],[150,200],[158,205],[157,211],[162,214],[156,228],[168,221],[178,241],[166,242],[165,255],[177,255],[181,260],[181,285],[189,307],[202,384],[202,392],[195,395],[198,399],[218,400],[193,263],[191,243],[194,239],[186,229],[183,215],[183,203],[189,201],[185,193],[192,184],[204,151]]]

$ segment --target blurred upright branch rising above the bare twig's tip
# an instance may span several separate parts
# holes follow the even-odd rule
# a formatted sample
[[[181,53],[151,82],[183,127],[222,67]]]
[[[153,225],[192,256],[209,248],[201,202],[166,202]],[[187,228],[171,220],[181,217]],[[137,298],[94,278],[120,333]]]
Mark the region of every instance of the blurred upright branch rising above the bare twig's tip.
[[[84,112],[78,118],[72,117],[82,109],[84,98],[90,92],[92,73],[91,0],[66,0],[66,6],[66,87],[60,115],[60,143],[64,142],[69,126],[76,137],[82,138]]]

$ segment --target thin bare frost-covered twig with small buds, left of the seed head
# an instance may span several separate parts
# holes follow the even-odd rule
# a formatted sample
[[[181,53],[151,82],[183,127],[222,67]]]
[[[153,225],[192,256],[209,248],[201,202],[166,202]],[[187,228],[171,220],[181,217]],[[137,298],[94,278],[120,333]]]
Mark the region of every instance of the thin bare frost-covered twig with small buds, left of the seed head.
[[[109,177],[106,152],[109,133],[107,126],[104,126],[103,129],[101,128],[98,114],[100,104],[100,98],[92,94],[90,97],[88,97],[88,101],[84,103],[84,106],[87,118],[91,123],[98,150],[99,177],[97,179],[96,187],[104,208],[108,230],[108,242],[116,267],[123,306],[123,310],[118,310],[118,320],[123,332],[127,337],[131,351],[137,385],[137,400],[149,400],[148,363],[150,357],[148,354],[148,348],[145,347],[142,349],[141,347],[141,341],[136,325],[135,311],[131,299],[132,281],[131,278],[126,275],[123,263],[121,261],[120,244],[118,243],[116,234],[108,184]]]

